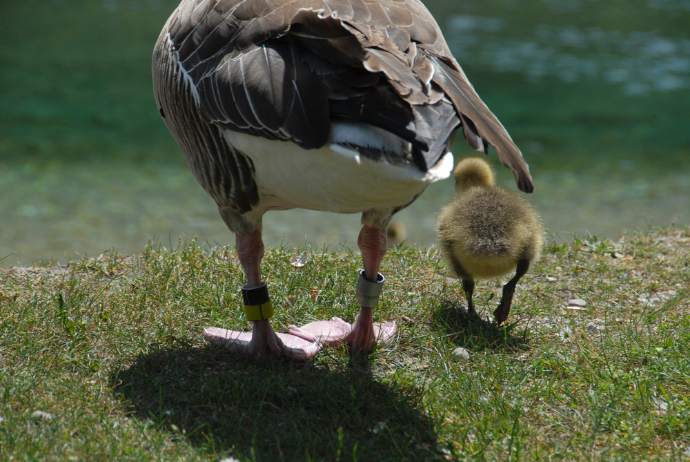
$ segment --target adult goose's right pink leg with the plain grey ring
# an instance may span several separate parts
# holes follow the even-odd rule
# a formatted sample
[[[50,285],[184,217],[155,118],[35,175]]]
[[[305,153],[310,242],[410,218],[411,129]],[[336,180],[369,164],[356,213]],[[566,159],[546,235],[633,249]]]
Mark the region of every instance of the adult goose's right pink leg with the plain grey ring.
[[[355,320],[348,343],[353,351],[366,353],[371,351],[375,343],[384,344],[395,335],[395,323],[374,323],[373,309],[378,304],[377,293],[370,296],[371,291],[380,292],[383,276],[379,273],[381,260],[386,253],[386,230],[370,227],[366,224],[359,232],[357,245],[362,251],[364,271],[357,284],[357,299],[360,300],[359,314]],[[376,287],[378,285],[378,287]]]

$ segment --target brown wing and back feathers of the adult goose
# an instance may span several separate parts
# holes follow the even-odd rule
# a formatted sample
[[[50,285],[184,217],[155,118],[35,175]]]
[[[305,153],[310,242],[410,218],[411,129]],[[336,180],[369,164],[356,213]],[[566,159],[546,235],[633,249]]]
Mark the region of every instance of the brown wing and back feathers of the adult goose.
[[[413,142],[422,170],[462,125],[471,147],[493,145],[520,189],[533,190],[520,150],[418,0],[190,0],[168,27],[215,124],[312,148],[333,117],[359,113]],[[377,115],[382,95],[390,110]]]

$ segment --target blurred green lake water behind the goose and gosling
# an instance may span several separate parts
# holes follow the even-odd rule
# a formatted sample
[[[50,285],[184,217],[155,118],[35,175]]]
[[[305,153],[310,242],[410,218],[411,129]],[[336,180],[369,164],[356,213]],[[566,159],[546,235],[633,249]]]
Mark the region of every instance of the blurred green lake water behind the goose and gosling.
[[[161,122],[153,44],[175,1],[0,3],[0,264],[233,244]],[[556,240],[690,224],[690,0],[427,1],[531,166]],[[456,157],[473,154],[460,140]],[[500,183],[513,175],[493,154]],[[397,215],[431,245],[452,180]],[[355,247],[359,216],[266,215],[268,244]]]

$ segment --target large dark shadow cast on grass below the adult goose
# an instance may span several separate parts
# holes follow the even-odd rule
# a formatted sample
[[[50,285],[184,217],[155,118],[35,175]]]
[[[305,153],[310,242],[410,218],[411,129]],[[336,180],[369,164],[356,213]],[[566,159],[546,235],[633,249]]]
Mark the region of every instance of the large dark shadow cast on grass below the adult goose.
[[[383,383],[368,361],[254,363],[215,346],[177,343],[142,354],[112,383],[135,417],[204,452],[265,461],[439,455],[422,392]]]

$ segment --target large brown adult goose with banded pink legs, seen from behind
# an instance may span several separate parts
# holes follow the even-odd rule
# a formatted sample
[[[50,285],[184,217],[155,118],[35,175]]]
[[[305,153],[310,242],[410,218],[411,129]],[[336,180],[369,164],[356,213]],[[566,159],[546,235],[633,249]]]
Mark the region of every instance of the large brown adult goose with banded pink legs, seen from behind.
[[[342,342],[368,352],[393,335],[395,325],[373,323],[386,226],[450,175],[458,128],[477,150],[495,146],[520,189],[533,189],[520,150],[418,0],[183,0],[152,61],[159,112],[235,233],[246,273],[252,331],[204,335],[250,356],[302,359]],[[297,207],[362,213],[354,325],[270,325],[262,217]]]

